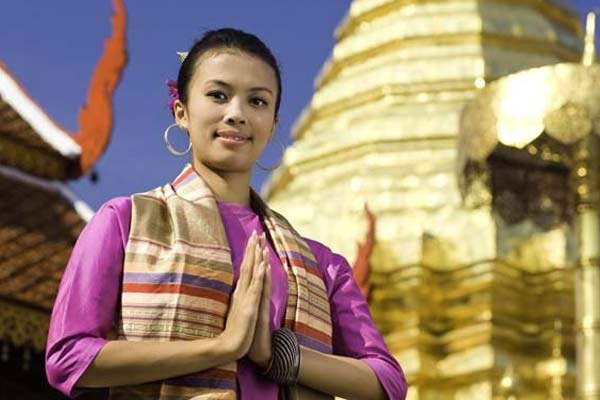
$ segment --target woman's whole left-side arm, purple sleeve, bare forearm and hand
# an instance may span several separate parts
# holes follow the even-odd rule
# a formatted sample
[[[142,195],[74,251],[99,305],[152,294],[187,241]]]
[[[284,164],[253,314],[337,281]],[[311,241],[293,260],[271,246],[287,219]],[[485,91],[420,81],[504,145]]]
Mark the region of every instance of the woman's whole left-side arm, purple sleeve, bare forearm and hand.
[[[50,322],[46,372],[51,385],[68,396],[76,396],[77,387],[135,384],[222,365],[250,346],[248,332],[254,329],[248,325],[255,323],[256,311],[247,305],[256,304],[263,281],[260,273],[252,279],[251,267],[240,274],[220,337],[179,343],[106,340],[120,298],[130,210],[129,199],[103,206],[82,231],[63,275]],[[244,262],[248,266],[253,259]]]

